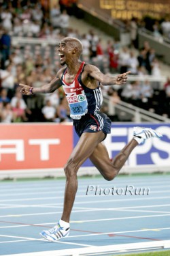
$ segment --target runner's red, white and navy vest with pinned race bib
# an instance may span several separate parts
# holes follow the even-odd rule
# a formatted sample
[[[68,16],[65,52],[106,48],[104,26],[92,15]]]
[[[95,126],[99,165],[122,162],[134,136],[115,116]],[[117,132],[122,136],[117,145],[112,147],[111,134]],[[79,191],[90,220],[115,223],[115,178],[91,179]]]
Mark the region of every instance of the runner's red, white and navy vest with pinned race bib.
[[[65,74],[67,68],[61,77],[63,90],[70,108],[70,117],[72,119],[81,119],[86,113],[95,113],[99,111],[103,97],[101,88],[90,89],[82,84],[81,76],[84,69],[85,62],[82,62],[75,79],[71,83],[66,83]]]

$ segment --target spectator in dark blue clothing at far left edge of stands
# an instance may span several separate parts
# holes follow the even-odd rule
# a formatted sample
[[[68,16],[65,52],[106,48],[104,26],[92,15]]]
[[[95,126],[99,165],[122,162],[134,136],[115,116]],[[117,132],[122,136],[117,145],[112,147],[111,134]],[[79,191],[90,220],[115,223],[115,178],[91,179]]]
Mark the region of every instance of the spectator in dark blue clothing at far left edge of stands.
[[[3,29],[3,33],[0,39],[0,49],[1,49],[1,68],[5,69],[5,63],[10,58],[10,48],[11,48],[11,37],[7,33],[7,30]]]

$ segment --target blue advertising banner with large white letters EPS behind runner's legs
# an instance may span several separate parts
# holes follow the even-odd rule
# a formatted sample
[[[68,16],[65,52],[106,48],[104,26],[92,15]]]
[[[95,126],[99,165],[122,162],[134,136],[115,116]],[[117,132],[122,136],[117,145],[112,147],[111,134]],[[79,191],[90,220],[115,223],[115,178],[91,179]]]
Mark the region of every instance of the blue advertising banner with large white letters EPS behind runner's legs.
[[[120,150],[133,138],[133,127],[141,124],[112,124],[112,132],[107,135],[105,145],[109,157],[114,158]],[[126,166],[137,165],[158,165],[170,167],[170,124],[142,124],[143,127],[150,127],[161,134],[161,139],[153,138],[146,140],[133,150],[126,161]],[[78,143],[78,135],[73,132],[73,145]],[[84,162],[83,167],[92,167],[90,160]]]

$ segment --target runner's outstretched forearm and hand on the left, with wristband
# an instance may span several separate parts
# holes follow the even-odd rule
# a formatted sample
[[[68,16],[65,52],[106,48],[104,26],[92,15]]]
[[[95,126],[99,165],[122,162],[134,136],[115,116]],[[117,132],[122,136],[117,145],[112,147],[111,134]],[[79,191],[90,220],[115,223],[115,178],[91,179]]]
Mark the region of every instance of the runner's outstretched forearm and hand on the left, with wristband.
[[[31,87],[29,85],[24,85],[22,83],[19,84],[22,94],[30,95],[30,94],[50,94],[54,92],[56,89],[61,87],[61,81],[58,77],[52,79],[52,81],[46,85],[42,85],[41,87]]]

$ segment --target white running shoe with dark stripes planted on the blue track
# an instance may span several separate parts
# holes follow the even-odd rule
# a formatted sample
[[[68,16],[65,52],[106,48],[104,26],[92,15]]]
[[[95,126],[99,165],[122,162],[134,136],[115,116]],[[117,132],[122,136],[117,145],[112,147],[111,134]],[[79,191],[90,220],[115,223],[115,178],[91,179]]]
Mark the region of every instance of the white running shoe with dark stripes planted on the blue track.
[[[70,227],[67,227],[66,229],[64,227],[61,227],[59,221],[52,229],[44,230],[39,234],[47,240],[55,242],[56,240],[69,236],[69,231]]]

